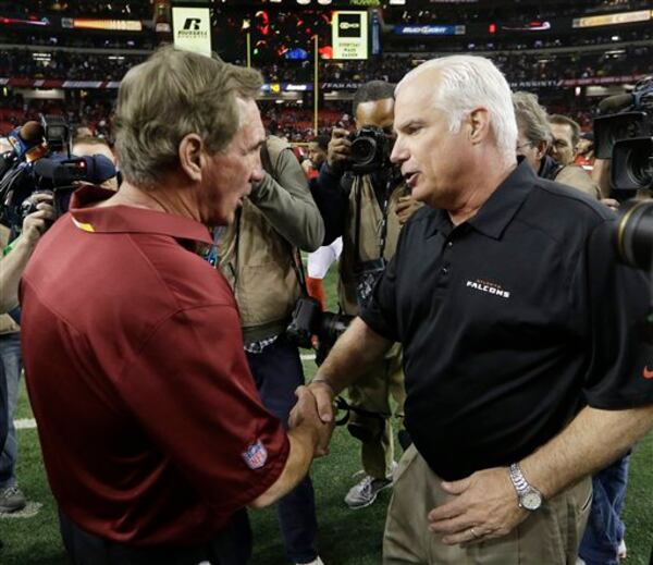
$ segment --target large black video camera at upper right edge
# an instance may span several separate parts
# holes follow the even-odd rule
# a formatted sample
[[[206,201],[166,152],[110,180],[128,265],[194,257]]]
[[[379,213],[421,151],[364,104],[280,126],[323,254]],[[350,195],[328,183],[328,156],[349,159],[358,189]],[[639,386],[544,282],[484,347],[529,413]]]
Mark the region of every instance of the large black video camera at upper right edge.
[[[611,96],[599,105],[594,120],[595,155],[612,159],[617,193],[653,188],[653,77],[640,81],[632,94]]]

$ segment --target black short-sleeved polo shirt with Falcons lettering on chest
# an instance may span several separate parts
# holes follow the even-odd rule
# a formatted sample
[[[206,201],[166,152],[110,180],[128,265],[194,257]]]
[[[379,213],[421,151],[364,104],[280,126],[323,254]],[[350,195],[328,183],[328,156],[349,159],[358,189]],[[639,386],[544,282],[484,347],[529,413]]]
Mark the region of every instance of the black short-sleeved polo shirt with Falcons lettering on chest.
[[[653,403],[649,288],[614,219],[522,162],[467,222],[424,207],[404,226],[361,317],[404,345],[406,427],[439,476],[519,460],[586,404]]]

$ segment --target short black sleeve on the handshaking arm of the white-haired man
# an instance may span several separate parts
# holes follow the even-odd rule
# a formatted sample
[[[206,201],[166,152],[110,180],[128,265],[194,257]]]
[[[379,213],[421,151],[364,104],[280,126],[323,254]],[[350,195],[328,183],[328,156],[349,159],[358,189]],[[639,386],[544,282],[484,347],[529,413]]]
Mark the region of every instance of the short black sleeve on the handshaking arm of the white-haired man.
[[[393,342],[401,341],[397,311],[396,285],[397,262],[401,260],[401,237],[397,253],[387,263],[382,277],[377,281],[370,300],[359,316],[378,334]]]

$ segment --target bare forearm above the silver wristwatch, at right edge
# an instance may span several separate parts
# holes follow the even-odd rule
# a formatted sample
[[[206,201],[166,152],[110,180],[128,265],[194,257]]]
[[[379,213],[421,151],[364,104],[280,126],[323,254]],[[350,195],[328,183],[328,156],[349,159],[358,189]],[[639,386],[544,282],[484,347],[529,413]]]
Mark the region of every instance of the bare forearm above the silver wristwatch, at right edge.
[[[521,462],[527,480],[549,499],[617,459],[653,428],[653,406],[587,407],[558,435]]]

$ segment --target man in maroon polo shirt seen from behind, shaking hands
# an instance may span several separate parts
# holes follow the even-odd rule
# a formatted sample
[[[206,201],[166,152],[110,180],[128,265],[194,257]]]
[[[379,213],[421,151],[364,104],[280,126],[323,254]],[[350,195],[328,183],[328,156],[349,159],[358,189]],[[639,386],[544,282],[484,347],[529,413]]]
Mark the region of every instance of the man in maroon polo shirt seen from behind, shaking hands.
[[[328,433],[262,407],[238,312],[197,253],[261,179],[260,75],[165,48],[120,88],[119,193],[78,192],[22,282],[27,385],[76,564],[245,563],[239,514],[288,492]]]

